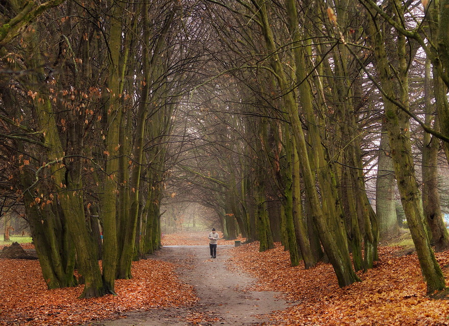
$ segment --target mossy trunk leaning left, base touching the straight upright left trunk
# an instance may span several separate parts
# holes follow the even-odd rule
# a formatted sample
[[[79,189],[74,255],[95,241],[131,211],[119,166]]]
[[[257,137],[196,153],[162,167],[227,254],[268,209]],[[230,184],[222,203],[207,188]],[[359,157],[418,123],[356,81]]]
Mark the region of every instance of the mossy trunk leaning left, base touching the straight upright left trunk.
[[[81,274],[85,280],[84,291],[81,297],[103,296],[105,290],[101,281],[92,238],[87,229],[83,206],[83,193],[81,182],[81,164],[78,159],[65,158],[53,104],[49,97],[49,90],[45,83],[45,73],[42,68],[42,56],[36,38],[30,39],[28,65],[34,70],[29,76],[28,85],[35,90],[33,105],[37,124],[43,135],[46,147],[48,167],[52,171],[52,180],[57,188],[58,204],[62,208],[65,226],[77,251]],[[82,155],[83,140],[80,138],[82,126],[74,121],[68,131],[69,149],[72,154]],[[75,138],[77,138],[75,140]],[[43,205],[41,205],[43,207]]]

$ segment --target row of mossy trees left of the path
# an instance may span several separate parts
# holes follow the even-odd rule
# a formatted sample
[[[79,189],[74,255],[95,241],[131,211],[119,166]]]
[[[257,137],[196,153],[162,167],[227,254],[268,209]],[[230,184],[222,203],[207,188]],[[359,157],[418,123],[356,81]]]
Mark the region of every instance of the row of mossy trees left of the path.
[[[159,247],[166,140],[196,58],[186,9],[2,3],[2,188],[48,288],[76,285],[78,268],[82,297],[114,293],[132,260]]]

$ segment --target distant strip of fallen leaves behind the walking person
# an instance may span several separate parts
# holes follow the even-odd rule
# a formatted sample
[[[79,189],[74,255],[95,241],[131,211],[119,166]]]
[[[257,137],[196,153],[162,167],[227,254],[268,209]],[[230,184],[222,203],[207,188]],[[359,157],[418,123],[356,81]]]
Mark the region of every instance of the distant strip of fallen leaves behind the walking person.
[[[209,246],[208,235],[211,231],[203,231],[203,232],[180,232],[180,233],[172,233],[172,234],[163,234],[162,235],[162,246]],[[235,240],[224,240],[221,239],[223,234],[218,232],[218,236],[220,240],[217,241],[217,244],[232,244],[234,245]],[[237,238],[241,242],[245,241],[245,238]]]

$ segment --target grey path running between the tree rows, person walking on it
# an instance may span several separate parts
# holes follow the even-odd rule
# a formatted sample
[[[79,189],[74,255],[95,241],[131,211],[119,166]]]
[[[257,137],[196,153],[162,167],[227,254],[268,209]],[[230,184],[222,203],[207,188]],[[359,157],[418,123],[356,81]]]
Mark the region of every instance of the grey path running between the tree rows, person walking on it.
[[[276,292],[251,291],[254,279],[226,268],[226,247],[218,246],[217,258],[211,259],[207,246],[167,246],[155,259],[180,264],[178,274],[191,284],[199,298],[195,306],[127,313],[127,318],[94,323],[96,326],[189,326],[197,325],[268,325],[272,311],[285,309],[287,303]],[[251,263],[251,262],[249,262]]]

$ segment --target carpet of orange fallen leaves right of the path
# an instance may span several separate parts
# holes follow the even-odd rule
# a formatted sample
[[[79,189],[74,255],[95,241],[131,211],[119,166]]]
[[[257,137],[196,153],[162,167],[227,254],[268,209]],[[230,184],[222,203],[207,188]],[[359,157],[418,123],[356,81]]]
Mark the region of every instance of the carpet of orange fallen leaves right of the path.
[[[330,264],[305,270],[290,266],[280,244],[263,253],[258,249],[257,242],[231,249],[231,263],[256,277],[259,289],[281,291],[294,301],[275,315],[278,325],[449,325],[449,302],[426,297],[416,254],[397,257],[399,247],[380,248],[375,268],[342,289]],[[436,255],[447,278],[449,251]]]

